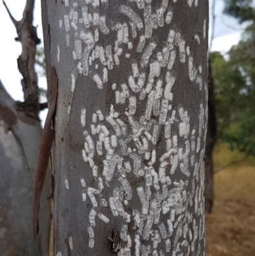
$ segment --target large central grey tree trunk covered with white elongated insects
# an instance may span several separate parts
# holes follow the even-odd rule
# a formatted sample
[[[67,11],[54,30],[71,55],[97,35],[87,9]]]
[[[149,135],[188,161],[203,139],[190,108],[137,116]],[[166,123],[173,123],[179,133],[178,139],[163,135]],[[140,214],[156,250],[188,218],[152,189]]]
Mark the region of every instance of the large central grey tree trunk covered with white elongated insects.
[[[48,0],[42,14],[55,255],[205,255],[208,1]]]

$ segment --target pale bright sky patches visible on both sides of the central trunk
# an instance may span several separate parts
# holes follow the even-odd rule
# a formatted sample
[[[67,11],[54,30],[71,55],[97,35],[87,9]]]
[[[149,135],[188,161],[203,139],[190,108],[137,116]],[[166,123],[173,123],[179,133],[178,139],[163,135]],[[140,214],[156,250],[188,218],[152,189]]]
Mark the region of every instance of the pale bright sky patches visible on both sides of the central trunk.
[[[25,0],[5,0],[6,4],[16,20],[22,18],[22,13],[25,6]],[[185,0],[182,0],[185,1]],[[200,0],[202,1],[202,0]],[[240,40],[241,33],[245,27],[240,26],[237,20],[222,14],[224,3],[222,0],[215,0],[215,32],[212,42],[212,51],[220,51],[226,54],[232,45],[235,45]],[[210,2],[212,3],[212,1]],[[21,53],[21,45],[15,41],[17,37],[16,29],[11,22],[2,1],[0,2],[0,79],[11,94],[14,100],[23,101],[22,87],[20,80],[22,76],[18,72],[17,58]],[[210,19],[212,20],[212,19]],[[38,38],[43,41],[43,33],[41,28],[41,6],[40,1],[35,1],[34,9],[34,26],[37,26]],[[211,31],[209,29],[209,38]],[[39,86],[46,86],[45,77],[38,77]],[[41,119],[45,117],[47,110],[41,114]]]

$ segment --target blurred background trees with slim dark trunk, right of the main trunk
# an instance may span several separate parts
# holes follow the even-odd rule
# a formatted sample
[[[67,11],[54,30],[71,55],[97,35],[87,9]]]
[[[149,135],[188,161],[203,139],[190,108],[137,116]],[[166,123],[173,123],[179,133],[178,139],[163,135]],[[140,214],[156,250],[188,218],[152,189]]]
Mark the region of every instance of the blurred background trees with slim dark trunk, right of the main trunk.
[[[208,132],[205,154],[205,211],[211,213],[214,201],[213,172],[244,160],[224,163],[214,170],[212,154],[215,143],[226,142],[231,150],[255,156],[255,10],[252,0],[225,0],[224,13],[247,27],[242,39],[222,55],[212,52],[208,77]],[[212,3],[212,38],[214,38]]]

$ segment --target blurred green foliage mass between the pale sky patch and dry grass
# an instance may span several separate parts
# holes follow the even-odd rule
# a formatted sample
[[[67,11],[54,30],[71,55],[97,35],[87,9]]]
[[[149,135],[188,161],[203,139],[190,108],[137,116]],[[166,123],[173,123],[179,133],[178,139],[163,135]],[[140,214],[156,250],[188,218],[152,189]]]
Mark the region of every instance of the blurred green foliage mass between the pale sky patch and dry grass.
[[[217,137],[230,149],[255,156],[255,27],[247,27],[229,59],[213,52]]]

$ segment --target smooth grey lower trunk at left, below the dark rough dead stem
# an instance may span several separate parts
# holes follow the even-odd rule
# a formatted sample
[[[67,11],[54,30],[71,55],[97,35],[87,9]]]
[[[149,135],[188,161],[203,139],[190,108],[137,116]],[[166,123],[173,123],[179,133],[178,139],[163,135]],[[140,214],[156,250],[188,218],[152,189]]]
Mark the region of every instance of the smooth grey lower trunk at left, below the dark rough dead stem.
[[[0,82],[0,252],[3,256],[48,255],[48,182],[41,197],[40,233],[37,241],[33,238],[33,186],[40,141],[40,122],[18,111],[17,103]]]

